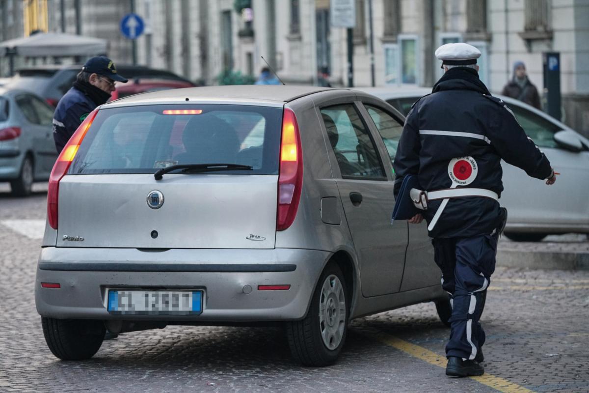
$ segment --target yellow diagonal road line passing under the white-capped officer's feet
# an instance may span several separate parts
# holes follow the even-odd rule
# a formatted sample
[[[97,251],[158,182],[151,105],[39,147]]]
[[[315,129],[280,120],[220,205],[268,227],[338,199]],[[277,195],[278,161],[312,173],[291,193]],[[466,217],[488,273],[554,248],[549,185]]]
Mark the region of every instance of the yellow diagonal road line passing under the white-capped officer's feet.
[[[411,344],[411,342],[396,338],[395,336],[389,335],[384,332],[380,332],[376,329],[362,329],[359,331],[368,338],[376,339],[383,344],[392,346],[393,348],[399,349],[406,354],[414,356],[415,358],[421,359],[434,366],[446,368],[446,356],[436,354],[435,352],[425,349],[422,346]],[[487,385],[493,389],[503,393],[534,393],[530,389],[526,389],[518,384],[509,382],[507,379],[495,377],[495,375],[484,374],[480,377],[469,377],[475,381]]]

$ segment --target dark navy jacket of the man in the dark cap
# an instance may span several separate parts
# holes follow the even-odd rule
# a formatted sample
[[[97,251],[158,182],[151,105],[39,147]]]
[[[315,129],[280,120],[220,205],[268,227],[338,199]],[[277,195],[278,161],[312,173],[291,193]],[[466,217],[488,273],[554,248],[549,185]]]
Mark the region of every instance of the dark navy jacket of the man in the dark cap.
[[[84,118],[96,107],[88,95],[75,87],[61,97],[53,115],[53,139],[57,153],[61,153]]]

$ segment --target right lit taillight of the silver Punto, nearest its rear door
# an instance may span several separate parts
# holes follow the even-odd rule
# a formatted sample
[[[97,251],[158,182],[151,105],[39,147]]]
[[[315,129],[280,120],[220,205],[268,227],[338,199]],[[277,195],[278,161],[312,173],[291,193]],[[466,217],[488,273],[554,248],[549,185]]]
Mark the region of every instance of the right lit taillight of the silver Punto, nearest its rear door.
[[[285,108],[282,118],[282,139],[280,140],[276,230],[287,229],[293,223],[297,209],[299,209],[302,187],[303,149],[300,143],[299,125],[294,112]]]

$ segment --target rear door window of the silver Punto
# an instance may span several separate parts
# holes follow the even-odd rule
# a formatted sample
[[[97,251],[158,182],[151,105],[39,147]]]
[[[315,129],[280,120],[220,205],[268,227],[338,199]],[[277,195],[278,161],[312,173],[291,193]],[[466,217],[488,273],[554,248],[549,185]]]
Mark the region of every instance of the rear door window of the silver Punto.
[[[323,108],[321,115],[342,177],[385,178],[374,141],[352,104]]]

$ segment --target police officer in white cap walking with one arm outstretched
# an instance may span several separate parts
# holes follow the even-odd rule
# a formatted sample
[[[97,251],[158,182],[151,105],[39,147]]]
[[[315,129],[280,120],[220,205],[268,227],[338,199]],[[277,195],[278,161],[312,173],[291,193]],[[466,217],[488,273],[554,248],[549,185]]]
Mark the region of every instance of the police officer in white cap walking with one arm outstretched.
[[[409,222],[428,222],[442,287],[452,304],[446,375],[458,377],[484,374],[485,332],[479,318],[507,220],[498,202],[501,159],[547,184],[556,180],[550,162],[512,111],[479,79],[480,56],[462,42],[436,50],[445,74],[431,94],[413,104],[393,165],[395,196],[405,176],[419,180],[411,199],[422,213]]]

